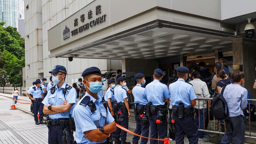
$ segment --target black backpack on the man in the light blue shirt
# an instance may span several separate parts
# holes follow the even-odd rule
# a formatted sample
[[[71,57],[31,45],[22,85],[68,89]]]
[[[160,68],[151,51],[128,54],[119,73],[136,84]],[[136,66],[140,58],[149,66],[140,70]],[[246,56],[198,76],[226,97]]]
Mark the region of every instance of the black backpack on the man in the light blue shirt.
[[[223,97],[223,92],[227,85],[222,87],[220,93],[216,94],[215,97],[212,99],[211,103],[211,111],[212,115],[217,120],[226,120],[229,117],[228,105],[226,100]],[[227,108],[227,112],[225,112],[225,108]]]

